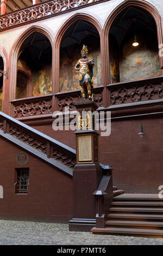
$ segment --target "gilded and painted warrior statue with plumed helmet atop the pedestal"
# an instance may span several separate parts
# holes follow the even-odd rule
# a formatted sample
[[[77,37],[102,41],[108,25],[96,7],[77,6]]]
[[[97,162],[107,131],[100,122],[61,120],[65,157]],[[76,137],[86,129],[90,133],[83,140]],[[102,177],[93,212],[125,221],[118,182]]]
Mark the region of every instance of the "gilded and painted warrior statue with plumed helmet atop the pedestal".
[[[92,99],[93,98],[93,59],[87,57],[87,46],[83,45],[81,51],[82,59],[79,59],[74,69],[79,71],[79,84],[82,87],[82,99]]]

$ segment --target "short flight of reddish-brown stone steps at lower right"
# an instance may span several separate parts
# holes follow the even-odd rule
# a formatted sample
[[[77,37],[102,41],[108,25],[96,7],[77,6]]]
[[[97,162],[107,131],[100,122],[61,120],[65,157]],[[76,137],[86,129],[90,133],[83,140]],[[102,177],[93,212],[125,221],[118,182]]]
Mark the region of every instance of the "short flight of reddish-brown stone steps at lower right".
[[[163,199],[158,194],[121,191],[114,196],[105,228],[91,231],[93,234],[163,237]]]

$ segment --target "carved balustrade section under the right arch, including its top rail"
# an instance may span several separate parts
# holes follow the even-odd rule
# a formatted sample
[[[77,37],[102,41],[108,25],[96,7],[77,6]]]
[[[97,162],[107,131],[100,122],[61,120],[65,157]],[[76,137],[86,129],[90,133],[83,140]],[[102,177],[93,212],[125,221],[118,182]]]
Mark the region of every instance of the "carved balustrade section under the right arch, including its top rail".
[[[163,76],[109,84],[109,105],[163,99]],[[147,102],[146,102],[147,103]]]

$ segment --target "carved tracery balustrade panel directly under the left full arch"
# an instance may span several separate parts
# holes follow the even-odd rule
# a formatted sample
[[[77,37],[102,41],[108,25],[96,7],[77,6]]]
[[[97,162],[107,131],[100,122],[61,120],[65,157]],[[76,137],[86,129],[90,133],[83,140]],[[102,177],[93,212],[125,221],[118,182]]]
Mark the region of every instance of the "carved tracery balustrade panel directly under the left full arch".
[[[52,96],[46,99],[44,97],[30,99],[30,101],[24,99],[12,101],[12,104],[14,105],[14,118],[52,113]]]

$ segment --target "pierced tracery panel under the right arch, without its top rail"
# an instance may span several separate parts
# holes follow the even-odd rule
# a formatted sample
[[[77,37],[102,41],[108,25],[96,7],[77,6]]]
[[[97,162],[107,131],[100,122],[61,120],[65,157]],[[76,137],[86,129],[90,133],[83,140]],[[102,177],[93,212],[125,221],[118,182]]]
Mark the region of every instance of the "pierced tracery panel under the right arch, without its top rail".
[[[111,88],[114,87],[111,86]],[[123,87],[119,88],[115,86],[114,89],[110,89],[110,105],[160,99],[163,97],[162,90],[163,82],[145,81],[145,83],[141,82],[139,85],[139,82],[136,81],[135,86],[133,83],[131,86],[123,84]]]

